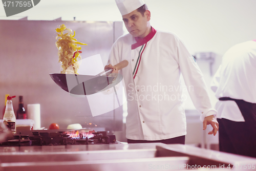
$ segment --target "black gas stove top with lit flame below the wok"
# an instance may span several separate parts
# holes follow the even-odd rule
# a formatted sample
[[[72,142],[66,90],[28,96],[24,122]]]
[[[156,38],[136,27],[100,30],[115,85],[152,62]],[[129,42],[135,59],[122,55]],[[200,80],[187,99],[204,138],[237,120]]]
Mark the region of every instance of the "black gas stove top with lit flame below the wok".
[[[116,143],[115,135],[106,135],[105,131],[68,130],[53,132],[30,131],[26,134],[14,134],[1,142],[0,146],[42,146],[42,145],[89,145]]]

